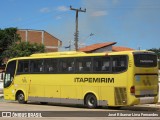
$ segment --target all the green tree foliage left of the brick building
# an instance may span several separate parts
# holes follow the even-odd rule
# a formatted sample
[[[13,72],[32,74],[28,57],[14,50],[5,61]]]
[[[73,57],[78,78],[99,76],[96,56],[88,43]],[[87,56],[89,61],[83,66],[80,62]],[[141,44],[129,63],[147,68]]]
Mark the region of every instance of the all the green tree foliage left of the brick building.
[[[41,53],[44,52],[45,47],[41,44],[21,42],[21,38],[17,34],[17,28],[6,28],[0,29],[0,49],[1,60],[3,60],[4,58],[10,59]]]

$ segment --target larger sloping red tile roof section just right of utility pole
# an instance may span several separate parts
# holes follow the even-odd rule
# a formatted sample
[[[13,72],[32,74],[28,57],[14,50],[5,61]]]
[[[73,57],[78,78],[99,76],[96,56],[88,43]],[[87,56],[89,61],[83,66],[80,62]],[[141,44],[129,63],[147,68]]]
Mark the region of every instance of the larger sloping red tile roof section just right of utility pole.
[[[97,43],[97,44],[93,44],[93,45],[90,45],[90,46],[80,48],[79,51],[91,52],[91,51],[94,51],[94,50],[97,50],[97,49],[100,49],[100,48],[103,48],[103,47],[111,46],[111,45],[114,45],[114,44],[116,44],[116,42]]]

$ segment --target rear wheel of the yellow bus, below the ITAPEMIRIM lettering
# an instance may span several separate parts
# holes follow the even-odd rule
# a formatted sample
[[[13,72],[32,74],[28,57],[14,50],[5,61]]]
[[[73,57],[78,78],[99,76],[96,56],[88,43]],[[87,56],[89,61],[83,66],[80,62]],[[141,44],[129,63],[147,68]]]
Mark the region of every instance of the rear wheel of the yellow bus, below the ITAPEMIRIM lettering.
[[[88,94],[85,97],[85,105],[90,109],[96,108],[97,107],[97,98],[96,98],[96,96],[94,94]]]

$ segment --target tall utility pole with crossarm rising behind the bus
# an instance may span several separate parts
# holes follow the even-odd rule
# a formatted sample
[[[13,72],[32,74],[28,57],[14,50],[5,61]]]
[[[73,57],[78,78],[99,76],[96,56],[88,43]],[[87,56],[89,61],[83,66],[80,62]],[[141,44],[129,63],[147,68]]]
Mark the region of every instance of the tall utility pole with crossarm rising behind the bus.
[[[76,11],[76,31],[75,31],[75,34],[74,34],[74,41],[75,41],[75,50],[77,51],[78,50],[78,12],[86,12],[86,9],[82,10],[81,8],[79,9],[75,9],[75,8],[72,8],[72,6],[70,6],[70,10],[74,10]]]

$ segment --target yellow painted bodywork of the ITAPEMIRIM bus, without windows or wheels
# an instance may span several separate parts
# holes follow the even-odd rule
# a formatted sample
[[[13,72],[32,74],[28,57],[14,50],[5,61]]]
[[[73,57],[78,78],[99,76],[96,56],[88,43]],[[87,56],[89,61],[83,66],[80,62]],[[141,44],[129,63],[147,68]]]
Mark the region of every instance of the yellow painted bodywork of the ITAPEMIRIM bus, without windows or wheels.
[[[41,59],[41,58],[65,58],[65,57],[80,57],[80,56],[106,56],[106,55],[127,55],[128,69],[121,73],[114,74],[22,74],[15,75],[13,83],[10,87],[4,89],[5,99],[15,100],[17,91],[21,90],[25,94],[25,100],[29,97],[46,98],[51,100],[55,98],[58,102],[62,99],[76,100],[84,103],[85,95],[93,93],[98,102],[104,102],[107,106],[129,106],[141,104],[139,97],[147,92],[155,94],[154,103],[158,101],[158,78],[156,75],[135,76],[135,73],[158,74],[157,67],[139,69],[134,67],[133,51],[130,52],[111,52],[111,53],[96,53],[86,54],[70,52],[70,53],[44,53],[34,54],[30,57],[15,58],[12,60],[25,59]],[[79,82],[76,78],[86,78],[86,81]],[[92,78],[105,78],[106,82],[90,82]],[[108,79],[108,80],[107,80]],[[104,79],[103,79],[104,80]],[[130,93],[130,87],[135,86],[135,95]],[[54,101],[53,101],[54,102]],[[78,103],[78,102],[77,102]]]

